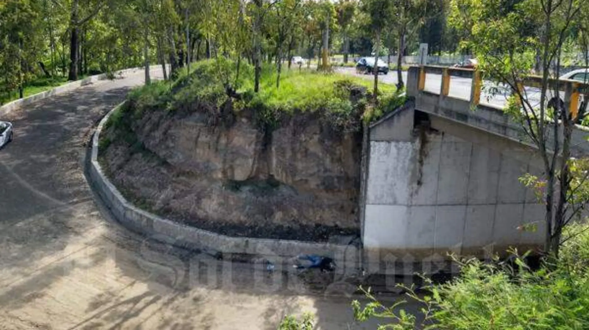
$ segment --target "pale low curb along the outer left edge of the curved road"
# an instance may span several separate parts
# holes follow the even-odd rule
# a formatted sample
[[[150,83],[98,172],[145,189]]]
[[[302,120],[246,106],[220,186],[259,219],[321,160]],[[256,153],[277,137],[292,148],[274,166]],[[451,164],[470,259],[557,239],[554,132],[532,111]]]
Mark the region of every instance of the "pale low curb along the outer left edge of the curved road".
[[[119,70],[114,74],[127,75],[129,73],[135,73],[138,70],[143,70],[143,67]],[[77,80],[75,82],[67,83],[65,85],[55,87],[54,89],[45,90],[45,92],[37,93],[35,95],[25,97],[24,99],[14,100],[12,102],[6,103],[3,106],[0,106],[0,116],[7,115],[12,110],[19,109],[22,106],[30,105],[31,103],[37,102],[38,100],[47,99],[47,97],[62,94],[65,92],[70,92],[71,90],[78,89],[82,86],[90,85],[91,83],[106,79],[107,74],[101,73],[100,75],[90,76],[81,80]]]

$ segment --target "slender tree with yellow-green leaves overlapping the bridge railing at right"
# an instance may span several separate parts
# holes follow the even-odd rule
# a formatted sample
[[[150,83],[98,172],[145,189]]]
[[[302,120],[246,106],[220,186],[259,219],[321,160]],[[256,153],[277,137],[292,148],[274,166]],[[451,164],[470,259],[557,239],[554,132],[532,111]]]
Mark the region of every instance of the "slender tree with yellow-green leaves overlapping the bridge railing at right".
[[[585,6],[585,8],[584,8]],[[587,198],[578,198],[578,184],[588,174],[575,179],[583,161],[571,159],[571,137],[576,118],[562,101],[548,102],[559,95],[557,83],[563,45],[575,35],[573,28],[586,11],[583,0],[452,0],[449,22],[468,31],[463,47],[472,50],[485,77],[503,83],[513,93],[506,111],[538,148],[544,173],[522,179],[540,187],[545,204],[545,251],[558,256],[562,230],[585,207]],[[540,31],[534,27],[542,26]],[[540,104],[535,104],[521,88],[534,69],[540,50]],[[576,182],[576,184],[575,184]]]

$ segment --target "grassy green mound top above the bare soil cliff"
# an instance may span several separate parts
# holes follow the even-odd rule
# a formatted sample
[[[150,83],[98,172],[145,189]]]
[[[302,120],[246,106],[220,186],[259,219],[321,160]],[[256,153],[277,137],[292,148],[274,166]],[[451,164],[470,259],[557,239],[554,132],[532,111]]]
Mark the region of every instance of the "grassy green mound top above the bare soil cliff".
[[[359,118],[370,122],[405,102],[392,85],[381,85],[379,106],[368,106],[372,82],[337,73],[284,70],[280,87],[273,66],[262,70],[260,92],[254,93],[254,72],[223,58],[206,60],[184,71],[174,82],[154,82],[130,93],[130,109],[136,118],[150,109],[201,111],[208,109],[211,123],[223,122],[232,114],[250,111],[260,127],[276,126],[280,118],[296,112],[320,113],[338,127],[358,127]],[[117,116],[113,116],[116,120]],[[354,125],[354,123],[356,123]]]

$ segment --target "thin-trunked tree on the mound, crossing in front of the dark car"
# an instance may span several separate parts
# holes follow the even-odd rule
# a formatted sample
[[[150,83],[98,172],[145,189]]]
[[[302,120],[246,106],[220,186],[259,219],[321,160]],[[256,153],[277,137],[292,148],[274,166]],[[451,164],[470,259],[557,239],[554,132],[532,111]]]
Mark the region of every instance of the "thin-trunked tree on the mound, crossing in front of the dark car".
[[[370,29],[374,31],[376,37],[375,55],[374,55],[374,91],[373,102],[376,105],[378,101],[378,52],[380,49],[380,35],[383,29],[391,21],[393,12],[391,1],[389,0],[364,0],[362,1],[362,10],[370,18]]]

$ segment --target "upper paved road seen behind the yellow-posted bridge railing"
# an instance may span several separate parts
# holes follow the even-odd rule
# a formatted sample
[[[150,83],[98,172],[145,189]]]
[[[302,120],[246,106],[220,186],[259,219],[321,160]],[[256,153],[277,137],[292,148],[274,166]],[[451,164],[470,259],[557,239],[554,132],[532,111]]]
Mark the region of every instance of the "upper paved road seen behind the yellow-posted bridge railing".
[[[348,75],[360,76],[366,79],[373,79],[370,75],[358,75],[354,68],[338,68],[339,72]],[[403,82],[407,83],[407,72],[402,72]],[[435,75],[428,73],[425,75],[425,90],[439,94],[442,85],[442,75]],[[391,71],[388,75],[380,75],[379,81],[384,83],[396,84],[398,82],[397,72]],[[471,98],[471,82],[470,78],[450,77],[449,97],[459,97],[461,99],[469,100]],[[490,82],[485,82],[485,87],[481,92],[481,103],[492,106],[503,107],[507,103],[505,95],[493,95],[489,87],[494,86]],[[527,89],[528,90],[528,89]],[[532,90],[532,89],[530,89]],[[497,94],[497,93],[495,93]]]

